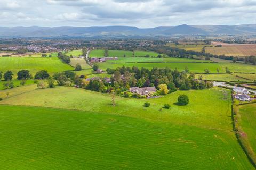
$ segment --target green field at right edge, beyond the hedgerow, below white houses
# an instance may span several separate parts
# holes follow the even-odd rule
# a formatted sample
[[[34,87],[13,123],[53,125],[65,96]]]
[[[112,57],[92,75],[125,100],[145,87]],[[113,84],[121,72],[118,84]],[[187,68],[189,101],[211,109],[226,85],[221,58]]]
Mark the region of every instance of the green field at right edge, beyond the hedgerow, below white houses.
[[[241,115],[241,122],[239,124],[247,134],[250,146],[254,154],[256,154],[256,104],[239,106],[239,114]]]

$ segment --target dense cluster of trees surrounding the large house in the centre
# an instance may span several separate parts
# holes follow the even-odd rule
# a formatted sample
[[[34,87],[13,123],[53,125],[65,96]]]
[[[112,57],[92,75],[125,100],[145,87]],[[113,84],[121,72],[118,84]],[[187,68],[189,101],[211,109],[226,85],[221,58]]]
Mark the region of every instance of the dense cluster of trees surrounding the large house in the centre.
[[[186,72],[179,72],[177,69],[169,68],[151,70],[136,66],[121,67],[117,69],[107,69],[108,74],[113,74],[110,78],[111,83],[105,83],[104,80],[90,80],[90,86],[87,89],[108,92],[114,89],[117,92],[127,91],[130,87],[151,87],[154,86],[159,90],[161,95],[180,90],[204,89],[213,86],[211,81],[195,79],[195,74],[191,73],[189,77]],[[104,86],[107,86],[105,88]],[[105,90],[104,90],[105,89]],[[140,96],[135,96],[140,98]]]

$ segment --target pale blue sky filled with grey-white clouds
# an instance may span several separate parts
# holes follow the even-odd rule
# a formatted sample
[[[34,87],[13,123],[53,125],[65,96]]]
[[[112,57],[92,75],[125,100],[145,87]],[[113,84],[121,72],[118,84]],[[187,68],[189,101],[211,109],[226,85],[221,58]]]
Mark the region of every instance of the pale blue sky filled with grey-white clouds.
[[[0,0],[0,26],[256,24],[256,0]]]

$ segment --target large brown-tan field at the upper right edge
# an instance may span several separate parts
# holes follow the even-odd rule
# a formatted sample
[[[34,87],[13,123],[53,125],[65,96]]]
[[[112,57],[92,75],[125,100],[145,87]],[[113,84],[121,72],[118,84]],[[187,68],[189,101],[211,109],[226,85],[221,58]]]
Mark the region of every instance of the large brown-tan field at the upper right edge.
[[[206,47],[206,53],[226,56],[250,56],[256,55],[256,45],[235,45],[222,47]]]

